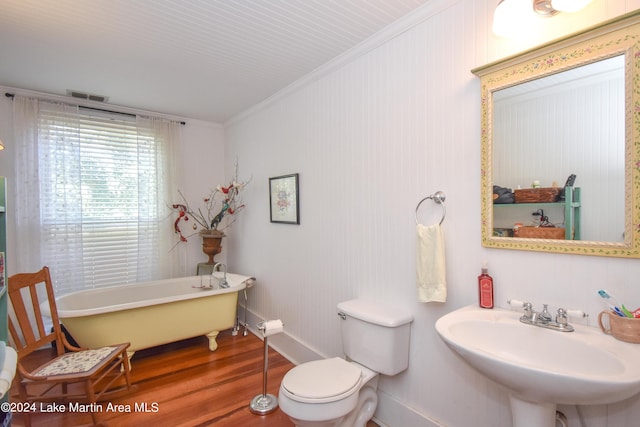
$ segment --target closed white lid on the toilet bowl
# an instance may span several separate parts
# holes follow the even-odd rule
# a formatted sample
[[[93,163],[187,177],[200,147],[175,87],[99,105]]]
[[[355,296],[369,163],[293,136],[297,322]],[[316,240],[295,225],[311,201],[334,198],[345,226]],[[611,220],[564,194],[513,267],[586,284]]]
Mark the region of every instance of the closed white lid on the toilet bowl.
[[[354,388],[362,371],[339,357],[303,363],[282,379],[290,393],[305,399],[326,399]]]

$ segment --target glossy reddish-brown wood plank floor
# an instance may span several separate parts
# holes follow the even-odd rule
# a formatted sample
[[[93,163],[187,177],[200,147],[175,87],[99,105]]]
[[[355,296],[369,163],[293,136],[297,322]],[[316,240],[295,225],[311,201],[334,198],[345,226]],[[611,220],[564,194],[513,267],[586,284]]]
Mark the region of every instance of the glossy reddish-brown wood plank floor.
[[[49,350],[44,350],[49,351]],[[256,336],[232,336],[222,332],[218,349],[210,352],[205,337],[193,338],[137,352],[131,360],[134,390],[100,404],[104,426],[210,426],[293,427],[277,409],[254,415],[249,403],[262,393],[264,345]],[[278,395],[280,381],[293,367],[269,349],[267,393]],[[18,392],[12,388],[11,401]],[[90,425],[88,412],[37,413],[33,426],[70,427]],[[73,408],[71,408],[73,409]],[[14,426],[24,422],[13,414]],[[369,422],[368,427],[376,426]]]

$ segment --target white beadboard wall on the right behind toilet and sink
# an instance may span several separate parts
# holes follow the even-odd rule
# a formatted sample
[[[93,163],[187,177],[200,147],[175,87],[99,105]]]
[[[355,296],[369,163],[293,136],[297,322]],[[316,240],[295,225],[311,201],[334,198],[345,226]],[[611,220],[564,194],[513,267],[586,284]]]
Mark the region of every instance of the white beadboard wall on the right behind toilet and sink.
[[[433,0],[407,19],[226,124],[226,167],[253,174],[247,208],[229,233],[230,270],[257,277],[252,321],[280,318],[274,345],[296,362],[341,354],[335,306],[369,298],[414,315],[410,367],[380,384],[378,421],[402,426],[510,425],[506,393],[468,368],[437,336],[443,314],[477,303],[487,260],[495,299],[583,309],[595,325],[595,290],[640,306],[637,260],[485,249],[480,244],[480,98],[470,69],[640,8],[594,0],[497,39],[497,0]],[[269,222],[268,179],[300,174],[300,225]],[[415,292],[415,207],[447,195],[448,299]],[[440,208],[425,202],[420,219]],[[541,348],[553,352],[553,348]],[[576,354],[576,358],[580,355]],[[579,425],[574,407],[561,407]],[[634,425],[640,399],[581,408],[586,425]]]

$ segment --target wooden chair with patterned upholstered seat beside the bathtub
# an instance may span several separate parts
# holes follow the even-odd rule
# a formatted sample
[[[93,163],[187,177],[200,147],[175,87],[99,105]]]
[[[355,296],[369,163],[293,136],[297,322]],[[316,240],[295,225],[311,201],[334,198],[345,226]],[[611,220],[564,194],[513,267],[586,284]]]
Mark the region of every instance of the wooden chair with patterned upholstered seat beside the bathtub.
[[[96,404],[131,388],[126,353],[129,343],[83,349],[67,341],[58,319],[49,268],[15,274],[9,277],[7,289],[15,313],[9,316],[9,332],[18,353],[17,377],[22,402]],[[45,329],[40,298],[48,300],[53,332],[47,333]],[[55,350],[48,349],[51,360],[30,366],[33,358],[28,356],[51,344],[55,344]],[[36,405],[40,407],[40,403]],[[26,426],[30,426],[29,413],[23,412],[23,416]],[[91,416],[96,424],[97,414],[91,411]]]

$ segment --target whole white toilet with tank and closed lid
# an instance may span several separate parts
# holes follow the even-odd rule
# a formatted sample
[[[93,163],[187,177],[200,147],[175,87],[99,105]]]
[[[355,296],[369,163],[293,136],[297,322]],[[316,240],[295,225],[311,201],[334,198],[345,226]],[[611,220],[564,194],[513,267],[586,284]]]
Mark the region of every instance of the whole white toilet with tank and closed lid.
[[[413,316],[361,299],[338,304],[346,360],[334,357],[296,366],[280,384],[280,409],[298,427],[364,427],[378,405],[378,374],[409,365]]]

